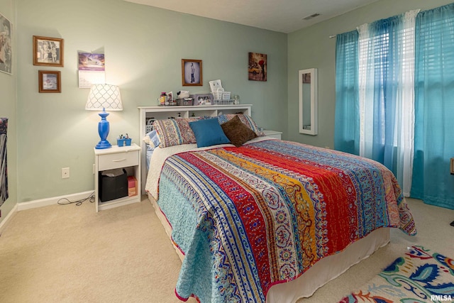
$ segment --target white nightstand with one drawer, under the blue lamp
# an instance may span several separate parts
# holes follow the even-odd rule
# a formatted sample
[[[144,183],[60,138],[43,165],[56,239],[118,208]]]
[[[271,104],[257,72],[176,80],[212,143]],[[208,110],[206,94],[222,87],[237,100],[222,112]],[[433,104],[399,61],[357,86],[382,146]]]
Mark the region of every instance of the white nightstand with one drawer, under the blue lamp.
[[[128,176],[135,177],[138,184],[138,188],[135,191],[136,194],[101,202],[99,197],[101,172],[114,170],[115,168],[123,168]],[[133,143],[121,147],[112,145],[111,148],[106,149],[94,148],[94,202],[96,204],[96,212],[140,202],[140,146]]]

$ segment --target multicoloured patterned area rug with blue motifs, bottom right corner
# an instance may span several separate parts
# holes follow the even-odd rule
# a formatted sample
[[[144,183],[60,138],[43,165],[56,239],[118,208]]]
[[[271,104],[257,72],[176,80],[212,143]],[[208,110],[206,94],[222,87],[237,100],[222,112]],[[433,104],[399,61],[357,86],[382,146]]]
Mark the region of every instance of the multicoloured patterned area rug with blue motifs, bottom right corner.
[[[339,302],[454,302],[454,260],[422,246],[409,247],[404,257]]]

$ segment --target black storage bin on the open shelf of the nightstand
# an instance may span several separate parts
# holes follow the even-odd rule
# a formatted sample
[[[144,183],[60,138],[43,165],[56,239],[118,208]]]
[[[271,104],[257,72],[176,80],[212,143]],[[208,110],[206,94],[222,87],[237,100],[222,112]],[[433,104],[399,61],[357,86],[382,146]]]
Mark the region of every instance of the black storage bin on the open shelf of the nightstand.
[[[99,199],[106,202],[128,196],[128,175],[123,169],[122,175],[109,177],[99,172]]]

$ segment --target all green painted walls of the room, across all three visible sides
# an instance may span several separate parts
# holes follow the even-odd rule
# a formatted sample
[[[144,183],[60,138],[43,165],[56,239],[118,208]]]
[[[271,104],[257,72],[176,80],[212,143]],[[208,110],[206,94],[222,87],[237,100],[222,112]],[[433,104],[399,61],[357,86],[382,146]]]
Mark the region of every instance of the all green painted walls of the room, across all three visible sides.
[[[139,143],[137,106],[157,104],[160,92],[206,93],[209,80],[222,79],[242,103],[253,104],[260,126],[332,148],[336,39],[329,36],[450,1],[381,0],[286,35],[123,0],[0,0],[15,26],[13,75],[0,73],[0,116],[10,119],[10,198],[2,216],[16,202],[94,188],[99,116],[84,110],[88,89],[78,88],[78,51],[105,53],[106,82],[121,87],[124,110],[109,116],[112,143],[119,133]],[[34,66],[33,35],[65,39],[65,67]],[[248,81],[248,52],[267,54],[267,82]],[[182,87],[181,59],[203,60],[203,87]],[[317,136],[298,133],[298,70],[312,67],[319,70]],[[60,71],[62,93],[38,93],[38,70]],[[62,167],[70,167],[69,179],[61,179]]]

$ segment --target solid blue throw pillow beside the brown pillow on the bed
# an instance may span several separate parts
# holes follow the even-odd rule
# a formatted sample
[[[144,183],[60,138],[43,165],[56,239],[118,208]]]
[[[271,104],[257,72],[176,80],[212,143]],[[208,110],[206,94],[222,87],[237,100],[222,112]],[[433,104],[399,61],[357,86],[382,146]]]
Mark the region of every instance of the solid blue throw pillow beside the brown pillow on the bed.
[[[198,148],[230,143],[217,118],[189,122],[189,126],[194,132]]]

